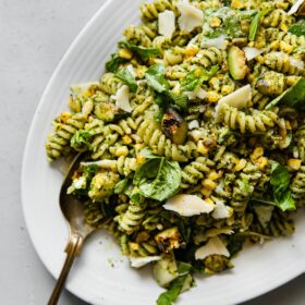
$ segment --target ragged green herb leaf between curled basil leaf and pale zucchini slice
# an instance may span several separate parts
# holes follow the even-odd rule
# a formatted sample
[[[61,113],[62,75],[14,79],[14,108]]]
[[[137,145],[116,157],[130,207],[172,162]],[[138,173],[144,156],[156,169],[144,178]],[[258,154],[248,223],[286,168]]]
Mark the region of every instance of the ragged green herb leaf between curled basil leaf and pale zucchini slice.
[[[182,91],[193,91],[204,82],[209,81],[219,70],[218,65],[213,65],[209,71],[197,68],[186,74],[181,82]]]

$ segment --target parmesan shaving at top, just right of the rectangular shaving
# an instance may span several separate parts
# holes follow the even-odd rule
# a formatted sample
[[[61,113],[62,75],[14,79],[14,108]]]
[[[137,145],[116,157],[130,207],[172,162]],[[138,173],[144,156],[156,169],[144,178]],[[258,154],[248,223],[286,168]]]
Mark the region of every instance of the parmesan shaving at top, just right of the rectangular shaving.
[[[204,23],[204,12],[188,2],[180,1],[176,7],[181,13],[178,24],[181,30],[192,32]]]

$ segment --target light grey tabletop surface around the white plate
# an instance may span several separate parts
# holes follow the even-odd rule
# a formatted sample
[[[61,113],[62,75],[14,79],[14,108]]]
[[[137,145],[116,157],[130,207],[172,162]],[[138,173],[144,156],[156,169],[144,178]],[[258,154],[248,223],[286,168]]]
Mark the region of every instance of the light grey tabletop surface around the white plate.
[[[24,224],[20,199],[23,149],[35,108],[52,71],[102,2],[0,0],[1,304],[46,304],[54,284]],[[304,284],[305,276],[245,305],[305,304]],[[60,304],[85,305],[66,292]]]

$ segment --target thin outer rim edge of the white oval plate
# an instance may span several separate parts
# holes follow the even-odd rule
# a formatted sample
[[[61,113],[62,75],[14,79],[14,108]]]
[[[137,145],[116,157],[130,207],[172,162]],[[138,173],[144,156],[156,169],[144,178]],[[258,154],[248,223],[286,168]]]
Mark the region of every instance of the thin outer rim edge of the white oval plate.
[[[147,0],[146,0],[147,1]],[[52,270],[51,268],[48,267],[48,264],[45,261],[46,259],[44,258],[44,256],[40,254],[40,251],[38,249],[38,245],[36,243],[35,236],[34,236],[34,232],[29,229],[30,225],[28,223],[28,218],[26,217],[27,212],[26,212],[26,202],[28,202],[28,199],[26,198],[26,193],[25,193],[25,181],[26,181],[26,166],[27,166],[27,160],[29,159],[28,155],[30,154],[30,138],[33,137],[33,135],[35,134],[35,126],[36,126],[36,122],[38,121],[38,113],[39,110],[44,107],[45,103],[45,99],[46,96],[48,95],[48,91],[50,90],[52,83],[54,82],[54,80],[57,78],[59,72],[61,71],[65,60],[70,57],[71,52],[73,52],[75,46],[78,44],[78,41],[81,39],[83,39],[83,36],[86,35],[87,30],[91,27],[91,25],[95,23],[95,21],[99,17],[100,14],[103,13],[103,11],[108,8],[108,5],[110,5],[112,2],[115,2],[114,0],[106,0],[105,3],[102,3],[100,5],[100,8],[97,10],[96,13],[93,14],[93,16],[87,21],[87,23],[82,27],[82,29],[80,30],[80,33],[75,36],[75,38],[73,39],[72,44],[69,46],[69,48],[66,49],[66,51],[63,53],[61,60],[59,61],[59,63],[57,64],[54,71],[51,74],[51,77],[49,78],[41,97],[39,98],[39,102],[36,106],[35,112],[33,114],[33,119],[32,119],[32,123],[28,129],[27,132],[27,136],[26,136],[26,142],[24,145],[24,149],[23,149],[23,158],[22,158],[22,168],[21,168],[21,182],[20,182],[20,186],[21,186],[21,204],[22,204],[22,211],[23,211],[23,217],[24,217],[24,221],[25,221],[25,225],[26,225],[26,230],[27,233],[29,235],[29,240],[32,242],[32,245],[37,254],[37,256],[39,257],[40,261],[42,263],[44,267],[48,270],[48,272],[54,278],[57,279],[58,276],[56,274],[54,270]],[[244,294],[244,296],[240,296],[236,297],[236,301],[239,303],[241,302],[246,302],[246,301],[251,301],[255,297],[258,297],[260,295],[264,295],[268,292],[271,292],[272,290],[290,282],[291,280],[300,277],[301,274],[303,274],[305,272],[304,268],[300,268],[300,270],[295,270],[295,272],[290,272],[289,276],[284,277],[284,279],[278,280],[277,282],[269,284],[266,289],[260,289],[258,292],[255,291],[253,293],[247,293],[246,295]],[[77,297],[80,297],[81,300],[83,300],[84,302],[90,302],[89,298],[81,293],[80,291],[76,290],[76,288],[74,289],[73,285],[68,285],[65,286],[66,290],[69,290],[72,294],[76,295]],[[51,293],[51,291],[50,291]]]

